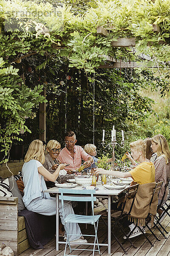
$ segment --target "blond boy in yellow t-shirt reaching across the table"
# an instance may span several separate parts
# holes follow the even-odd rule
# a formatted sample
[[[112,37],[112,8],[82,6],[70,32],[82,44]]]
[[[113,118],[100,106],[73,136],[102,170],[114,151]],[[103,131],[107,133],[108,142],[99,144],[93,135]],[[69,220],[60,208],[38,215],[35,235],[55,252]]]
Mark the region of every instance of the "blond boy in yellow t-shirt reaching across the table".
[[[96,174],[112,175],[113,177],[127,178],[132,177],[134,183],[147,184],[155,181],[155,167],[153,163],[146,158],[146,144],[143,140],[137,140],[130,143],[131,156],[140,164],[129,172],[107,171],[102,168],[96,169]],[[147,195],[146,195],[147,196]],[[139,216],[140,217],[140,216]],[[130,230],[133,230],[135,225],[133,222],[127,222]],[[130,238],[141,235],[141,231],[136,228],[130,235]]]

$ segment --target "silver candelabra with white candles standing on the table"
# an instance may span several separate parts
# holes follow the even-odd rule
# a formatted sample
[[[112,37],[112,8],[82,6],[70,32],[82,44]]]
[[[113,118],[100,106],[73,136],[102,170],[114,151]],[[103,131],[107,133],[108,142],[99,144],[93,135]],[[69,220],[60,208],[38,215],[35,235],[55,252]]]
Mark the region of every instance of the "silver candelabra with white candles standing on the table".
[[[103,137],[102,137],[102,143],[101,144],[102,144],[103,148],[107,148],[107,147],[110,147],[110,146],[112,146],[112,148],[113,148],[113,150],[112,150],[113,161],[112,161],[112,164],[111,164],[111,170],[114,171],[114,169],[115,169],[115,166],[114,166],[115,146],[119,145],[120,148],[124,148],[124,146],[125,146],[123,130],[122,130],[121,144],[116,142],[116,130],[114,129],[114,125],[113,125],[113,130],[111,131],[111,143],[108,143],[106,145],[106,143],[105,143],[105,130],[103,130]]]

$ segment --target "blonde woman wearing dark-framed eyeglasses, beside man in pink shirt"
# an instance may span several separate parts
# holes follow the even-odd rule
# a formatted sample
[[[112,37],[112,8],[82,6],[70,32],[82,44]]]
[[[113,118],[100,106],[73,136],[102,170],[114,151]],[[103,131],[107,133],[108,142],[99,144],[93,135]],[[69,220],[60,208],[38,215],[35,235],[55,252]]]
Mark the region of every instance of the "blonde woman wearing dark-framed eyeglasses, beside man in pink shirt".
[[[46,149],[45,149],[45,162],[43,166],[45,169],[48,170],[50,173],[54,173],[55,170],[58,168],[59,162],[57,160],[59,156],[59,152],[61,151],[61,145],[57,140],[50,140],[47,143]],[[68,179],[74,179],[74,175],[67,174],[65,170],[59,171],[59,176],[57,178],[58,183],[63,183]],[[48,186],[49,184],[47,184]],[[54,186],[54,183],[53,183]]]

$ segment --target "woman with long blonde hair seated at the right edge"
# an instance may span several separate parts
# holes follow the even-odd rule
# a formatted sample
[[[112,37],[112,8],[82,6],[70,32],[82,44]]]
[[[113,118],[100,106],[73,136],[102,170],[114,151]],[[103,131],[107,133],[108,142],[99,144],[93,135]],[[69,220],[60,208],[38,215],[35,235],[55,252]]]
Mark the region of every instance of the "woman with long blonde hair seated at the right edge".
[[[167,183],[168,178],[170,177],[170,148],[167,143],[166,138],[157,134],[152,138],[151,149],[154,153],[157,153],[157,158],[154,161],[155,166],[155,181],[164,181],[161,191],[159,193],[158,204],[161,203],[161,199],[165,192],[165,185]],[[164,195],[164,201],[167,199],[167,191]]]

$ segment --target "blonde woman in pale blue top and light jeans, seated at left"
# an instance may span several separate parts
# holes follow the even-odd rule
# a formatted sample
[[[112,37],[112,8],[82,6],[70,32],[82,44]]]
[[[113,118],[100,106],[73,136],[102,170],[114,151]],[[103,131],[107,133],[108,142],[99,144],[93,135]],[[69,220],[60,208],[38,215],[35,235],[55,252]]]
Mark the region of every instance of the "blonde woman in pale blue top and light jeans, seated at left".
[[[41,140],[32,141],[28,148],[22,168],[25,187],[23,202],[29,211],[42,215],[56,215],[55,198],[51,198],[49,193],[43,192],[47,189],[44,178],[54,182],[59,175],[59,171],[65,168],[65,164],[60,164],[55,172],[51,174],[42,166],[45,161],[44,151],[45,146],[43,146]],[[63,215],[68,214],[74,214],[71,203],[65,204],[64,212],[62,212],[62,204],[59,201],[59,215],[62,223]],[[87,240],[81,239],[82,234],[77,223],[70,224],[70,233],[76,234],[70,235],[70,241],[87,243]]]

